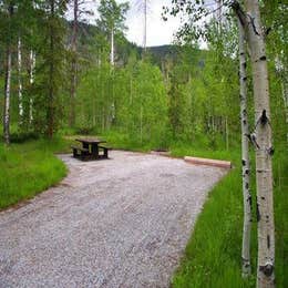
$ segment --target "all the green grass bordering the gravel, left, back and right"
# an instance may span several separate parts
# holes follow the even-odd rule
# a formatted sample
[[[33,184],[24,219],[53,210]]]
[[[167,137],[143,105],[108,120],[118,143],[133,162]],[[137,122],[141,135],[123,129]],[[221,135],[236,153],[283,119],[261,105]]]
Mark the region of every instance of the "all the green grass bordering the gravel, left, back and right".
[[[102,135],[114,148],[146,152],[155,148],[130,141],[125,135],[110,132]],[[66,173],[54,152],[69,152],[69,141],[40,140],[13,144],[6,148],[0,144],[0,208],[37,193],[59,182]],[[240,275],[243,199],[240,178],[240,152],[199,150],[177,143],[171,147],[173,156],[203,156],[230,160],[234,169],[210,192],[199,215],[193,237],[186,247],[181,266],[172,279],[173,287],[255,287],[256,223],[253,227],[253,275],[244,281]],[[278,150],[274,160],[275,222],[276,222],[276,279],[278,287],[288,287],[288,158],[285,150]],[[253,183],[255,192],[255,183]],[[254,195],[255,198],[255,195]],[[255,205],[255,203],[254,203]],[[254,207],[255,212],[255,207]]]

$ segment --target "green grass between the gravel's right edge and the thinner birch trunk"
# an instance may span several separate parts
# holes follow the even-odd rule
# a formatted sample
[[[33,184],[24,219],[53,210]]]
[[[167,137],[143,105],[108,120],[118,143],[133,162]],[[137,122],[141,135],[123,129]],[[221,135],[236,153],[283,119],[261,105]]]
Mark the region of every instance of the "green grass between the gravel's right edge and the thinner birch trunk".
[[[209,193],[204,209],[173,278],[173,287],[249,287],[240,276],[241,178],[239,153],[184,151],[196,155],[233,160],[236,166]],[[174,154],[179,155],[179,150]]]

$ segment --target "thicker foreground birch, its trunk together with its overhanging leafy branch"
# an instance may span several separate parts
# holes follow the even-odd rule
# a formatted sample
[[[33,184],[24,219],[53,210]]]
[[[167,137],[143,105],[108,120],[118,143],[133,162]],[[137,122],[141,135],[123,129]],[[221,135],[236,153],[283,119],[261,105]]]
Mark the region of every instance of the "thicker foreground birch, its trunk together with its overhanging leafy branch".
[[[256,147],[256,182],[257,182],[257,220],[258,220],[258,269],[257,286],[275,286],[275,227],[272,205],[272,168],[271,155],[271,121],[269,107],[269,82],[267,56],[265,48],[265,31],[261,25],[259,1],[245,0],[245,12],[237,1],[225,1],[232,6],[238,17],[247,38],[250,50],[253,70],[255,133],[250,135]],[[186,6],[186,7],[185,7]],[[217,8],[216,8],[217,9]],[[172,9],[166,8],[164,14],[176,16],[181,11],[188,11],[189,22],[185,23],[178,35],[185,38],[188,33],[194,37],[205,37],[197,21],[209,16],[210,11],[205,1],[175,0]],[[203,20],[204,21],[204,20]],[[208,22],[202,22],[204,30]]]

